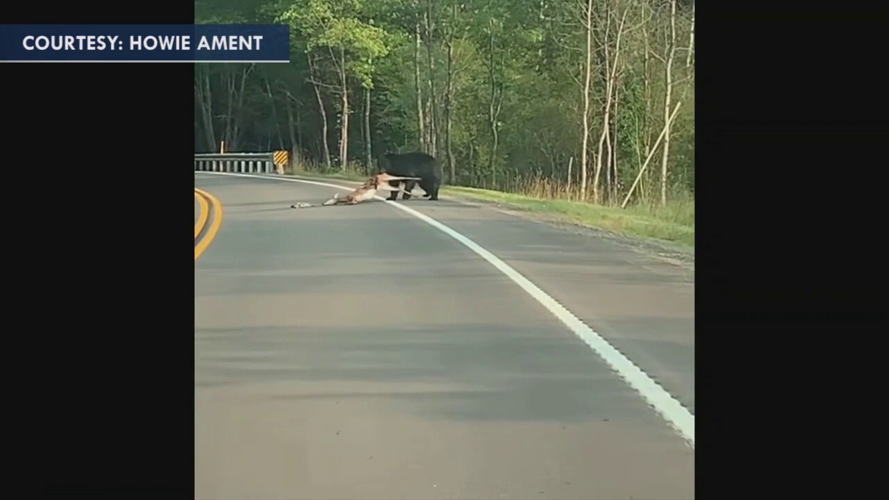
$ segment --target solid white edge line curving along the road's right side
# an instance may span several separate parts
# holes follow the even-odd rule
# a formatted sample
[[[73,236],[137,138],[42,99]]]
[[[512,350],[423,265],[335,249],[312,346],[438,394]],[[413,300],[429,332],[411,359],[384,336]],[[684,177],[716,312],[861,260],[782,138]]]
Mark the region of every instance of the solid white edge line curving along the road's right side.
[[[284,177],[280,175],[274,174],[265,174],[265,175],[257,175],[252,173],[228,173],[228,172],[208,172],[208,171],[195,171],[195,173],[209,173],[215,175],[230,175],[235,177],[252,177],[256,179],[268,179],[271,181],[289,181],[289,182],[302,182],[304,184],[315,184],[316,186],[324,186],[328,188],[335,188],[338,190],[354,190],[354,188],[347,188],[344,186],[338,186],[336,184],[330,184],[328,182],[320,182],[320,181],[308,181],[305,179],[297,179],[292,177]],[[562,321],[566,327],[568,327],[574,335],[577,335],[581,338],[581,340],[587,345],[589,345],[590,349],[592,349],[596,354],[608,364],[609,367],[613,369],[613,371],[620,375],[621,379],[624,382],[628,383],[630,387],[632,387],[635,391],[639,393],[640,396],[651,405],[655,411],[657,411],[666,421],[669,423],[670,427],[672,427],[675,431],[679,433],[680,436],[685,440],[685,442],[694,448],[694,415],[688,411],[688,408],[684,407],[682,403],[680,403],[676,398],[674,398],[670,393],[661,387],[661,384],[656,383],[652,380],[650,376],[645,374],[645,372],[637,367],[632,361],[630,361],[626,356],[624,356],[621,351],[618,351],[613,347],[612,344],[608,343],[601,335],[598,335],[592,328],[587,326],[586,323],[581,321],[578,317],[574,316],[574,314],[565,308],[562,304],[556,301],[556,299],[552,298],[541,290],[540,287],[534,285],[531,280],[522,276],[517,270],[514,270],[509,266],[506,262],[501,261],[499,257],[492,254],[491,252],[485,250],[482,246],[478,245],[475,241],[463,236],[461,233],[452,230],[451,228],[445,226],[445,224],[436,221],[432,217],[429,217],[426,214],[421,214],[416,210],[404,206],[402,204],[389,201],[386,198],[381,198],[375,196],[373,198],[380,199],[385,203],[388,203],[390,206],[397,208],[398,210],[402,210],[408,214],[413,215],[414,217],[420,219],[422,222],[428,223],[430,226],[436,228],[436,230],[440,230],[444,232],[446,235],[451,238],[459,241],[463,246],[467,246],[469,250],[472,250],[480,257],[485,259],[488,263],[493,265],[495,268],[500,270],[503,274],[505,274],[509,279],[512,279],[518,286],[521,286],[525,292],[530,294],[537,302],[540,302],[541,305],[549,310],[557,319]]]

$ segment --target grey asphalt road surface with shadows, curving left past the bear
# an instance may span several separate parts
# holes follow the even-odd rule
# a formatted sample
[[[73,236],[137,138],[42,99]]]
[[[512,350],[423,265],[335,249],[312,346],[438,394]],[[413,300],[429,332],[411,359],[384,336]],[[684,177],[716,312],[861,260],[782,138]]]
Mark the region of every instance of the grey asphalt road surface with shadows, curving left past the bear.
[[[338,183],[338,181],[331,181]],[[500,270],[380,201],[196,173],[195,494],[692,499],[694,451]],[[484,246],[694,408],[693,271],[443,198]]]

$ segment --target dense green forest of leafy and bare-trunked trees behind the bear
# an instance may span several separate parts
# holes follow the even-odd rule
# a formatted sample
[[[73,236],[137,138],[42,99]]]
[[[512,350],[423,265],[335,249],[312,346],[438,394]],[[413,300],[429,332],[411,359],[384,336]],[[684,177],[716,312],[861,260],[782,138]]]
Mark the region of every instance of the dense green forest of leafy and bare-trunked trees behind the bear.
[[[420,150],[445,186],[691,217],[693,0],[196,0],[285,23],[291,61],[195,65],[196,152],[367,173]]]

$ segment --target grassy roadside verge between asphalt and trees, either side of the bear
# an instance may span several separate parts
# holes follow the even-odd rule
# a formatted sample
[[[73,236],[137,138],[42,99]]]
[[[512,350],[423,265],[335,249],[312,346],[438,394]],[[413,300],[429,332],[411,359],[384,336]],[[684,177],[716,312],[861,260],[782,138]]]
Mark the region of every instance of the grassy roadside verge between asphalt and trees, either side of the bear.
[[[317,173],[297,169],[293,173],[344,181],[364,181],[365,178],[360,172]],[[555,222],[569,222],[623,236],[651,238],[694,247],[693,198],[680,198],[671,201],[666,207],[637,204],[621,208],[567,199],[564,189],[540,179],[517,182],[512,190],[518,192],[445,186],[442,187],[441,194],[445,197],[491,202],[540,215]]]

